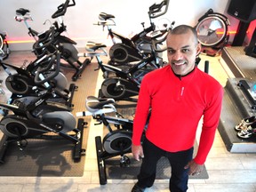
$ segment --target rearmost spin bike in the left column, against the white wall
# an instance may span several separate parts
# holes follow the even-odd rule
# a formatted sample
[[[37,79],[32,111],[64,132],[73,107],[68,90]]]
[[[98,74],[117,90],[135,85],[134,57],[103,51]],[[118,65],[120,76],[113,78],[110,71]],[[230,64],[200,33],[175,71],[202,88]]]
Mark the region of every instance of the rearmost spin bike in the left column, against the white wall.
[[[66,31],[66,26],[64,25],[64,21],[62,20],[62,17],[67,12],[68,7],[75,6],[76,2],[75,0],[72,0],[72,3],[70,3],[70,0],[66,0],[64,4],[60,4],[58,6],[58,10],[52,14],[52,19],[58,19],[58,21],[55,21],[52,23],[54,26],[54,40],[52,42],[52,46],[57,46],[62,44],[63,49],[61,51],[61,59],[66,60],[68,64],[71,66],[71,68],[74,68],[76,70],[75,74],[72,76],[72,80],[76,81],[79,76],[82,75],[84,68],[90,63],[90,60],[85,59],[83,63],[78,60],[77,57],[77,49],[74,46],[76,44],[75,41],[68,38],[67,36],[62,36],[61,34]],[[26,27],[28,28],[28,35],[33,36],[35,41],[38,41],[40,39],[40,33],[38,33],[36,30],[32,29],[28,25],[28,20],[32,20],[32,17],[29,13],[29,10],[20,8],[16,11],[16,17],[15,20],[17,21],[24,21],[26,24]],[[33,46],[34,48],[34,46]],[[52,51],[53,50],[53,51]],[[54,52],[53,49],[48,49],[49,52]],[[36,52],[34,50],[36,56],[40,55],[42,52]],[[67,66],[67,65],[66,65]]]

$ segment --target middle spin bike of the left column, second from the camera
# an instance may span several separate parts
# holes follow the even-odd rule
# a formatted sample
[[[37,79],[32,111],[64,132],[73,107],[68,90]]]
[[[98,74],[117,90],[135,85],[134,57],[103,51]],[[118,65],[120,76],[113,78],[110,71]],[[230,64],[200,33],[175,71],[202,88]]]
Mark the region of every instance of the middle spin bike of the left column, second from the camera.
[[[50,40],[45,40],[44,44],[40,44],[40,46],[36,43],[36,50],[44,49],[49,44],[52,44],[51,36],[54,35],[53,30],[53,28],[50,28],[48,31],[44,32],[45,38]],[[52,99],[64,102],[69,107],[73,106],[72,100],[77,86],[76,84],[70,84],[69,89],[66,89],[68,80],[66,76],[64,76],[60,71],[58,71],[58,74],[54,76],[54,78],[52,77],[52,79],[49,80],[48,84],[35,84],[34,79],[36,76],[37,68],[44,65],[45,63],[47,64],[49,61],[53,62],[54,60],[52,59],[52,56],[54,56],[53,53],[47,54],[47,52],[44,52],[44,54],[38,56],[36,60],[30,62],[28,66],[26,66],[26,63],[24,63],[21,67],[14,66],[0,60],[0,65],[4,68],[4,71],[8,75],[5,79],[5,85],[7,89],[12,92],[12,99],[24,96],[37,96],[40,94],[40,92],[44,92],[47,87],[51,86],[55,92],[54,96],[52,96]],[[50,68],[49,71],[47,71],[48,76],[51,76],[54,70],[54,68]]]

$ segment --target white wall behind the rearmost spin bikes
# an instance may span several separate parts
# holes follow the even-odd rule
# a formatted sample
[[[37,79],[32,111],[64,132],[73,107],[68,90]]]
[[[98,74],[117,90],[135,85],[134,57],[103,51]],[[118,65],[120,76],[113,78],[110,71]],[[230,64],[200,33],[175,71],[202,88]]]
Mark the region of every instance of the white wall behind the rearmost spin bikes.
[[[44,20],[52,20],[52,13],[65,0],[0,0],[0,32],[7,31],[8,39],[32,39],[28,36],[28,29],[23,22],[14,20],[15,11],[19,8],[30,10],[34,21],[30,27],[37,31],[49,28],[49,23],[43,25]],[[107,30],[102,31],[97,22],[100,12],[107,12],[116,16],[116,32],[129,36],[141,30],[141,22],[148,26],[148,7],[159,4],[161,0],[76,0],[76,6],[69,7],[64,17],[68,35],[76,39],[77,47],[84,47],[87,41],[108,44]],[[175,25],[196,25],[197,20],[210,8],[214,12],[226,13],[229,0],[170,0],[168,12],[161,18],[175,20]],[[229,18],[229,17],[228,17]],[[231,18],[232,19],[232,18]],[[158,18],[156,19],[159,20]],[[53,21],[53,20],[52,20]],[[234,21],[237,25],[237,20]],[[80,39],[77,39],[80,38]],[[31,44],[10,44],[11,50],[30,50]]]

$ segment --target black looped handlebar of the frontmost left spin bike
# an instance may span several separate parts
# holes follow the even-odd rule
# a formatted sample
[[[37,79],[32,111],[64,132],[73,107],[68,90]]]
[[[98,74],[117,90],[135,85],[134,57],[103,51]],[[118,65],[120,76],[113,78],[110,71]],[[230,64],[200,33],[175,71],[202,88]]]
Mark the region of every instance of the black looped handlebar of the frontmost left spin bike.
[[[56,55],[57,56],[56,56]],[[46,62],[48,62],[48,64],[45,67],[39,66],[36,69],[36,76],[34,78],[34,81],[36,84],[44,84],[45,82],[48,82],[49,80],[51,80],[52,78],[54,78],[55,76],[57,76],[60,72],[60,52],[56,52],[55,54],[50,54],[48,55],[44,60],[46,60]],[[50,59],[51,57],[51,59]],[[50,61],[48,61],[50,59]],[[46,71],[49,71],[52,68],[52,65],[54,64],[54,61],[56,60],[56,68],[54,70],[54,73],[50,73],[50,76],[45,77],[44,79],[40,78],[40,75],[42,76],[42,74]]]

